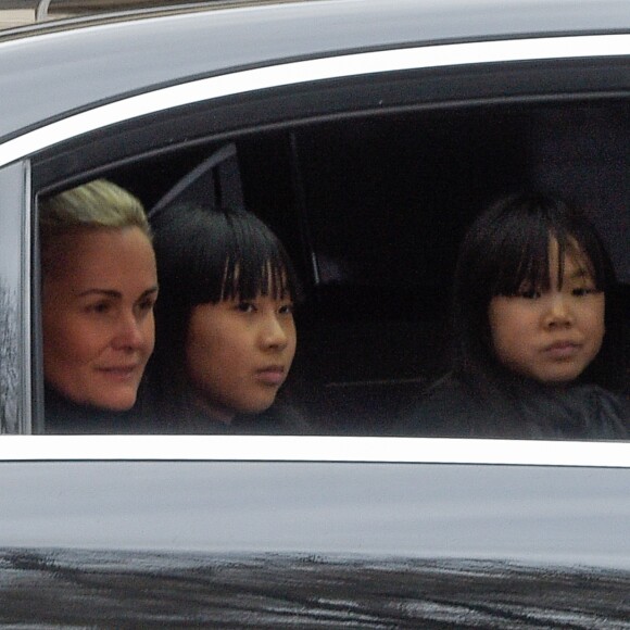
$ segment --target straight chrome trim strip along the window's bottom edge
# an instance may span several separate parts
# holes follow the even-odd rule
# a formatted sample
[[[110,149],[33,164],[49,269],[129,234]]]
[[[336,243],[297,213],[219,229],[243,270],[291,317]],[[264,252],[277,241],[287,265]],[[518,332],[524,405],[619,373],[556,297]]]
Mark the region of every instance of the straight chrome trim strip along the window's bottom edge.
[[[5,436],[0,462],[181,461],[630,468],[630,442],[295,436]]]

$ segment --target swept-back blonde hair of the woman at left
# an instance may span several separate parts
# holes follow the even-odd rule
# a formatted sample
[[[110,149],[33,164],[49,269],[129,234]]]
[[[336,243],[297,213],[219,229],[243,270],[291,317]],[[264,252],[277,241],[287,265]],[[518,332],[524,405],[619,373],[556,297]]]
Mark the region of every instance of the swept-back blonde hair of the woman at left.
[[[39,202],[41,267],[54,265],[52,250],[60,238],[78,230],[137,227],[151,239],[140,200],[116,184],[94,179]]]

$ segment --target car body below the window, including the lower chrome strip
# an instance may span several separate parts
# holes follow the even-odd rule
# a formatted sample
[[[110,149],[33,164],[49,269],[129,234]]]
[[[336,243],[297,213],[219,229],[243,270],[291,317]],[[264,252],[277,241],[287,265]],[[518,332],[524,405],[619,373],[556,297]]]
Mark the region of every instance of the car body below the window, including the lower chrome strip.
[[[64,461],[41,461],[47,442]],[[5,622],[153,610],[155,623],[562,628],[572,613],[581,628],[627,626],[625,444],[45,437],[11,450]],[[41,607],[24,608],[25,589]]]

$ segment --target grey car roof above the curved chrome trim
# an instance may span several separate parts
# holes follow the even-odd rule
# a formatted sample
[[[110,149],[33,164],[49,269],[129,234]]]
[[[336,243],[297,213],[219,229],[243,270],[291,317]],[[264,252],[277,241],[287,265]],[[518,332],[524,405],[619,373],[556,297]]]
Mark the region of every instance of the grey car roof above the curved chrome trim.
[[[161,11],[75,17],[0,35],[0,139],[181,77],[278,60],[630,32],[627,0],[207,2]]]

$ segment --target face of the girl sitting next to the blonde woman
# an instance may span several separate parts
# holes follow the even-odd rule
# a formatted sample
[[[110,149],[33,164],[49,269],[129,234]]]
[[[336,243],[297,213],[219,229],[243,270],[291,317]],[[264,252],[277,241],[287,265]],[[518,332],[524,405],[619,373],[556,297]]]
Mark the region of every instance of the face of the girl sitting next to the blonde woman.
[[[295,354],[290,299],[259,294],[194,306],[186,340],[188,377],[210,417],[269,407]]]

